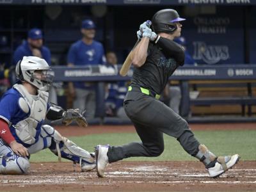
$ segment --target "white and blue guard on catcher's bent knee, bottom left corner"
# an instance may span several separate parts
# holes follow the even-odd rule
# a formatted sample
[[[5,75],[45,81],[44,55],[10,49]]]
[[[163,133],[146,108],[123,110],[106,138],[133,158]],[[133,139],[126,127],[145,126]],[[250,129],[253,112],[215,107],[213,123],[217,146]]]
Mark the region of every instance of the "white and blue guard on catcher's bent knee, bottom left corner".
[[[20,175],[28,172],[30,163],[28,159],[9,152],[0,156],[0,173],[7,175]]]

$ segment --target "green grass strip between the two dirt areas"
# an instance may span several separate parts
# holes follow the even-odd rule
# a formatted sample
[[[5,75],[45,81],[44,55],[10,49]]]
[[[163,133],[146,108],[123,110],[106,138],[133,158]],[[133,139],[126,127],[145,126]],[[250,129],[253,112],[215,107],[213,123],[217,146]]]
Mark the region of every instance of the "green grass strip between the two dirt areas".
[[[256,160],[256,131],[195,131],[195,136],[217,156],[239,154],[242,161]],[[97,144],[122,145],[131,141],[140,141],[136,133],[92,134],[87,136],[70,137],[79,147],[90,152]],[[132,157],[125,161],[194,161],[179,142],[170,136],[164,136],[165,149],[159,157]],[[58,157],[49,149],[31,155],[31,162],[58,161]],[[63,161],[65,161],[63,159]]]

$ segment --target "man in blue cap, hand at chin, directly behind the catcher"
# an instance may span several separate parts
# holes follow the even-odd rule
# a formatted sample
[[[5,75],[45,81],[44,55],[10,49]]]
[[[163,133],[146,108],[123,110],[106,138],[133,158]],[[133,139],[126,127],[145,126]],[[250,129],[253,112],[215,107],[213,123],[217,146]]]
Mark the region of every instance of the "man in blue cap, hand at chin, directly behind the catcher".
[[[28,40],[19,45],[13,54],[13,65],[16,65],[24,56],[36,56],[44,59],[51,65],[51,51],[44,46],[43,33],[41,29],[33,28],[28,31]],[[53,86],[49,90],[49,102],[58,104],[57,93]]]

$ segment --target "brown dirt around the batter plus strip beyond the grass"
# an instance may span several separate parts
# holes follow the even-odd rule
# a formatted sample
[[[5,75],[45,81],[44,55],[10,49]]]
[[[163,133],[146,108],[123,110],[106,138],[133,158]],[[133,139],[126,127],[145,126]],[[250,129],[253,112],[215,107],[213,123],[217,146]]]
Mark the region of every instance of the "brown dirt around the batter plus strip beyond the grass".
[[[256,124],[191,125],[191,129],[256,129]],[[72,128],[72,132],[70,132]],[[133,132],[132,126],[58,127],[65,136],[100,132]],[[256,161],[241,161],[218,179],[191,161],[109,164],[106,177],[81,173],[72,163],[32,163],[26,175],[0,175],[0,191],[256,191]]]

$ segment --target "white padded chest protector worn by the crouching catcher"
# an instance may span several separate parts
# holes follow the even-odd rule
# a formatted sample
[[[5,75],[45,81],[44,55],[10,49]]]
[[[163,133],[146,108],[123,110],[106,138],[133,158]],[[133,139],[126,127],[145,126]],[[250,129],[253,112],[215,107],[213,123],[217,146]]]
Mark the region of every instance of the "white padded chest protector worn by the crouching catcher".
[[[22,84],[15,84],[13,88],[22,95],[19,99],[20,109],[24,113],[30,112],[28,118],[21,120],[13,127],[19,139],[31,145],[35,143],[36,130],[41,129],[39,123],[45,118],[49,93],[38,90],[38,95],[30,95]]]

